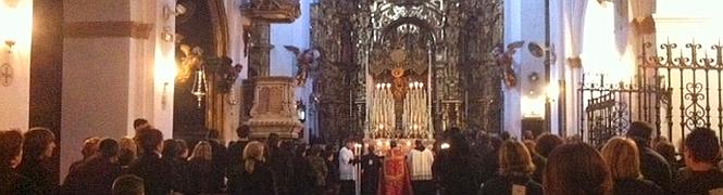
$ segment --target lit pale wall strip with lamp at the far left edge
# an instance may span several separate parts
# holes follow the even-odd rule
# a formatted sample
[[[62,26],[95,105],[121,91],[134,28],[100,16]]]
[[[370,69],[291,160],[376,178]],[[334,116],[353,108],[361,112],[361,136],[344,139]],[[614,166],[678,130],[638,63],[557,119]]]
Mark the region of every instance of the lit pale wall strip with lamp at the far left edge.
[[[33,31],[33,0],[18,0],[11,9],[0,1],[0,74],[3,64],[10,65],[12,80],[0,83],[0,130],[28,129],[30,101],[30,41]],[[4,41],[14,40],[9,48]],[[2,80],[3,76],[0,76]]]

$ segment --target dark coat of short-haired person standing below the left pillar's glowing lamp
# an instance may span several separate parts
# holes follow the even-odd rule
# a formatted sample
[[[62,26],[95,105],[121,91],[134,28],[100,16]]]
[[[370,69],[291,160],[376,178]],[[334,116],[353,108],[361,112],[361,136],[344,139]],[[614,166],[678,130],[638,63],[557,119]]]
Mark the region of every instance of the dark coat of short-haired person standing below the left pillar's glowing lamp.
[[[130,165],[128,172],[144,179],[144,187],[148,195],[165,195],[172,190],[178,191],[178,178],[166,160],[157,154],[146,152],[144,156]]]

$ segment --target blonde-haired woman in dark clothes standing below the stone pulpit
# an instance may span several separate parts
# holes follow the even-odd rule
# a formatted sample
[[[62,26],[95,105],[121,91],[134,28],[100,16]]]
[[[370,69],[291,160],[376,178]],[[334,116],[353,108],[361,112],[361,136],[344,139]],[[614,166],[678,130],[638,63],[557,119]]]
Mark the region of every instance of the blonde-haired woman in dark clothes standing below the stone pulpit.
[[[277,194],[271,169],[265,165],[265,146],[249,142],[244,148],[244,160],[228,171],[229,194]]]

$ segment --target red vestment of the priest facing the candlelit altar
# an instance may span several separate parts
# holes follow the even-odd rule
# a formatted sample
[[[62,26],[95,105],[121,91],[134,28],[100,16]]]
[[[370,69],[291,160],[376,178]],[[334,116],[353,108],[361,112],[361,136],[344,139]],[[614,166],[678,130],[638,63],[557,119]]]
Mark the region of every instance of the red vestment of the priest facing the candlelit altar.
[[[389,150],[384,158],[382,178],[379,180],[379,195],[411,195],[412,183],[409,180],[409,168],[404,153],[399,147]]]

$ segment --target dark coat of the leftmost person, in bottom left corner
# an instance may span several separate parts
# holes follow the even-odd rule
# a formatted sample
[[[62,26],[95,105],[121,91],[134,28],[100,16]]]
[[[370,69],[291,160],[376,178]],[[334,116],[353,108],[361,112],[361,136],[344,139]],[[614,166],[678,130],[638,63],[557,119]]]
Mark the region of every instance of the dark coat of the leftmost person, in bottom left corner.
[[[0,194],[34,195],[39,193],[29,178],[16,173],[8,166],[0,166]]]

